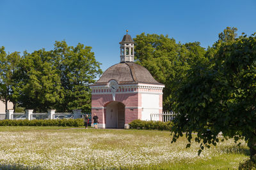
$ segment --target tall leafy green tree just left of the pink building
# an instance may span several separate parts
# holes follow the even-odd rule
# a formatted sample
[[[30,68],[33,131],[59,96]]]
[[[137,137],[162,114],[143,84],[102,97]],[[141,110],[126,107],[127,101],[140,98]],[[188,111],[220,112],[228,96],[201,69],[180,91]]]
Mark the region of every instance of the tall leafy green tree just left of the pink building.
[[[100,63],[95,60],[92,47],[78,44],[68,46],[65,41],[56,41],[52,52],[54,66],[60,75],[64,99],[59,110],[82,109],[89,111],[91,92],[89,85],[102,74]]]

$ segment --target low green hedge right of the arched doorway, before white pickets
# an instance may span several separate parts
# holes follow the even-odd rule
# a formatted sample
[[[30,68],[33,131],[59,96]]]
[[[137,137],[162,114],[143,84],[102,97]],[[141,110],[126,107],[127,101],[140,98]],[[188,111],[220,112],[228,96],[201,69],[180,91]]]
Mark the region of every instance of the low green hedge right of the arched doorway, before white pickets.
[[[173,122],[159,122],[159,121],[145,121],[145,120],[133,120],[129,126],[131,129],[151,129],[160,131],[170,131],[172,129]]]

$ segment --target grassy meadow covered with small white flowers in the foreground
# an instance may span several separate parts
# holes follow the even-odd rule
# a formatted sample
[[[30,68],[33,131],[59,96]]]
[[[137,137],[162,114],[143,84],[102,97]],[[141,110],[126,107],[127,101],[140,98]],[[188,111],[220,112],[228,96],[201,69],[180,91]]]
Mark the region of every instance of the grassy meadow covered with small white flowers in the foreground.
[[[232,139],[197,155],[198,144],[170,132],[0,127],[2,169],[237,169],[249,157]],[[1,169],[0,168],[0,169]]]

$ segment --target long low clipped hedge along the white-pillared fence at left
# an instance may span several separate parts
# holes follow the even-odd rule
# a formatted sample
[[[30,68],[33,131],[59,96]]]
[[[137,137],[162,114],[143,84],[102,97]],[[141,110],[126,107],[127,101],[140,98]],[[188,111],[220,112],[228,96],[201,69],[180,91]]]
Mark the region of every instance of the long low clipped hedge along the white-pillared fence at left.
[[[0,126],[83,126],[83,118],[53,120],[0,120]]]

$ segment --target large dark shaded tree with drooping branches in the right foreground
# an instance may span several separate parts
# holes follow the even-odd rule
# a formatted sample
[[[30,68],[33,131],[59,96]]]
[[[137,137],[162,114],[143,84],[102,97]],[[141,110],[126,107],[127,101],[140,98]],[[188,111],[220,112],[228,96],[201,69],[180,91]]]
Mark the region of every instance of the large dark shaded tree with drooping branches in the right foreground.
[[[253,34],[234,38],[223,34],[220,37],[225,41],[221,41],[214,53],[214,64],[192,67],[177,90],[175,111],[179,115],[173,125],[172,142],[186,133],[189,147],[192,132],[197,132],[195,141],[200,143],[200,154],[204,146],[216,145],[222,132],[226,139],[244,138],[253,159],[256,157],[256,37]]]

